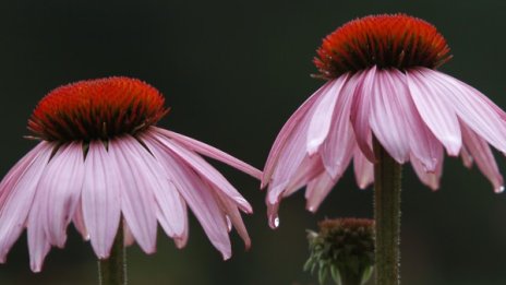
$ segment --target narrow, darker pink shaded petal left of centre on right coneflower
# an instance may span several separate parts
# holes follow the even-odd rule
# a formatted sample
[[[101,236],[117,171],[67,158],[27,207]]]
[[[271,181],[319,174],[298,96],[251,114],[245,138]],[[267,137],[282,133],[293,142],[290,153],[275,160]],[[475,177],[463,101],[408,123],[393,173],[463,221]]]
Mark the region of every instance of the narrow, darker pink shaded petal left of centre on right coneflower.
[[[370,127],[371,117],[371,96],[376,76],[376,67],[358,73],[359,84],[353,94],[351,104],[351,124],[353,126],[354,138],[362,150],[362,153],[369,161],[374,162],[374,153],[372,149],[372,134]]]

